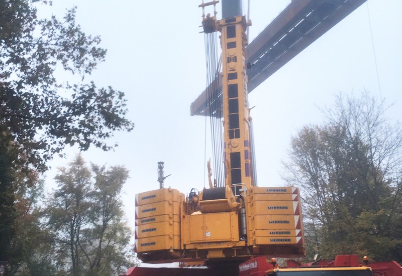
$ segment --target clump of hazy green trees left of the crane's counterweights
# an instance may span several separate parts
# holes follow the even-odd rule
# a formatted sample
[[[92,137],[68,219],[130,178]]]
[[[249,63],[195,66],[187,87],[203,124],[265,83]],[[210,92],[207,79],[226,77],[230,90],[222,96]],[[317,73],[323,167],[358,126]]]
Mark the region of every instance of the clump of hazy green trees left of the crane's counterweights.
[[[24,174],[22,174],[24,175]],[[132,233],[124,220],[121,166],[86,167],[78,155],[55,177],[45,200],[44,182],[18,185],[15,233],[8,249],[12,275],[114,275],[134,260]],[[42,202],[39,202],[42,201]],[[43,203],[45,202],[45,204]],[[42,207],[41,207],[42,206]]]

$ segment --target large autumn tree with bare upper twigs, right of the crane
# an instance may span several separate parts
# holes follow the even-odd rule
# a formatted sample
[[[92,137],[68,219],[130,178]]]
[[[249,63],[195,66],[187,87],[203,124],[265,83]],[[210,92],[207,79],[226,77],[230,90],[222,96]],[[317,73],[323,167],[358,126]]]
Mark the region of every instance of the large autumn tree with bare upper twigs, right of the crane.
[[[305,194],[310,254],[402,259],[402,130],[384,102],[337,95],[328,122],[292,138],[287,181]]]

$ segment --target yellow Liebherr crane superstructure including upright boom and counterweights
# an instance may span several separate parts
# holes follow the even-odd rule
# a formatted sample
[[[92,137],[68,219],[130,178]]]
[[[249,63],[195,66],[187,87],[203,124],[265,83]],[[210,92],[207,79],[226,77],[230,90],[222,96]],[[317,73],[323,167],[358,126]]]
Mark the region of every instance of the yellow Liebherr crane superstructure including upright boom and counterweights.
[[[205,33],[220,32],[224,183],[184,197],[162,188],[136,195],[136,251],[145,261],[237,259],[305,254],[300,196],[295,187],[257,187],[247,91],[249,23],[241,0],[223,0],[223,18],[205,15]],[[219,72],[217,72],[218,74]],[[217,97],[218,98],[218,97]]]

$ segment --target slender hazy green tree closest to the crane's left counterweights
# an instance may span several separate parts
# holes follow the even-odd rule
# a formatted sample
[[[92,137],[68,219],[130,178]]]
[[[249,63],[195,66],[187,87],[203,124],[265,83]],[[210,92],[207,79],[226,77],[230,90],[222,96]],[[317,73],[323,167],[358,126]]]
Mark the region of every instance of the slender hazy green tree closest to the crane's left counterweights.
[[[130,229],[123,221],[123,204],[120,193],[128,178],[124,167],[105,167],[92,165],[95,183],[91,197],[93,198],[90,214],[91,229],[89,237],[96,237],[96,247],[84,250],[89,264],[90,274],[113,274],[122,267],[127,267],[126,245],[130,241]],[[107,269],[107,270],[106,270]],[[115,269],[115,270],[114,270]]]

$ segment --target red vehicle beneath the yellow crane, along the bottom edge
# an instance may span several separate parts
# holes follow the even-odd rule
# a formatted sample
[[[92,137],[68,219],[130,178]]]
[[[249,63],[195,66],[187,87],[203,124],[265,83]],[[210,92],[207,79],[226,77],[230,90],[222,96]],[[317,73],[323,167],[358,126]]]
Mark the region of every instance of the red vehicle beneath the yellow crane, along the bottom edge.
[[[369,262],[364,258],[359,263],[357,255],[338,255],[334,260],[320,259],[302,263],[286,260],[279,267],[275,259],[260,256],[251,258],[238,266],[235,262],[212,266],[188,266],[182,262],[148,264],[130,267],[121,276],[402,276],[402,266],[396,261]]]

